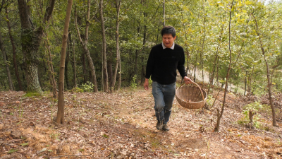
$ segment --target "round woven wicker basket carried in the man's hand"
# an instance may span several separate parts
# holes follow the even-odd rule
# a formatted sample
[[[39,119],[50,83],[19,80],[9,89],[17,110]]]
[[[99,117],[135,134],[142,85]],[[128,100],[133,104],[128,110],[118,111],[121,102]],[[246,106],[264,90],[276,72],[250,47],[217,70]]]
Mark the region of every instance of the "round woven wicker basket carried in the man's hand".
[[[183,84],[176,90],[176,100],[185,108],[195,110],[200,109],[207,102],[207,93],[197,85],[196,86],[183,86]]]

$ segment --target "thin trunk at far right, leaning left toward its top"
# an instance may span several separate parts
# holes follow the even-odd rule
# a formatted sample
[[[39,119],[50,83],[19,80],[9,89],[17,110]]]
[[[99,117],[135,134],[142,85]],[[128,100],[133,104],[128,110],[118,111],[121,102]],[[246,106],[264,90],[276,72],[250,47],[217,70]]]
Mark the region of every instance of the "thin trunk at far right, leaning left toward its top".
[[[271,107],[271,110],[272,110],[272,124],[273,124],[273,126],[278,126],[276,124],[276,114],[275,114],[275,108],[274,108],[273,97],[272,97],[272,81],[271,81],[271,78],[270,78],[269,64],[267,62],[265,52],[264,52],[264,47],[262,45],[262,37],[259,34],[259,27],[257,25],[257,19],[255,18],[254,14],[252,14],[252,17],[255,20],[255,24],[256,24],[255,30],[257,32],[257,35],[259,36],[259,44],[260,44],[260,48],[262,49],[262,55],[264,56],[264,61],[265,61],[265,65],[266,65],[267,82],[268,82],[268,87],[269,87],[269,102],[270,102],[270,107]]]

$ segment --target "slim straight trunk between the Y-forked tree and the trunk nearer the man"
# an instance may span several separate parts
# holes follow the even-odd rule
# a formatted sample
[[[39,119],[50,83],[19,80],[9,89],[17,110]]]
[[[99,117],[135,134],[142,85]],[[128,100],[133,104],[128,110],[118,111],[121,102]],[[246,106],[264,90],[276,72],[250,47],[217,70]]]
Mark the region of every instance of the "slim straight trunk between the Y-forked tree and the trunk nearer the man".
[[[102,39],[103,39],[103,49],[102,49],[102,56],[103,56],[103,77],[102,80],[104,82],[104,92],[108,92],[108,73],[106,71],[106,31],[104,26],[104,16],[103,16],[103,0],[100,0],[99,3],[100,8],[100,19],[101,19],[101,28],[102,28]]]

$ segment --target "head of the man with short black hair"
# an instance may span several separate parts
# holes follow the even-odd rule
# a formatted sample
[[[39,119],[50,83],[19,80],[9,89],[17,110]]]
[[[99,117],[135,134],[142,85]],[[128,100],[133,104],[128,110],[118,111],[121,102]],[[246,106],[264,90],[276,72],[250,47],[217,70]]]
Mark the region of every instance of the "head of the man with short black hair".
[[[171,48],[174,40],[176,40],[176,29],[172,26],[164,26],[161,30],[161,36],[163,37],[164,46]]]

